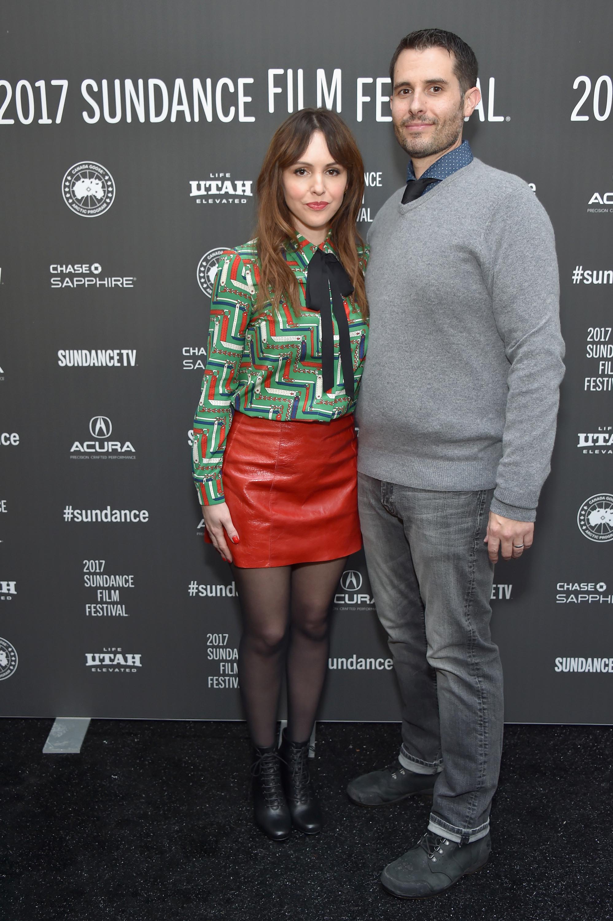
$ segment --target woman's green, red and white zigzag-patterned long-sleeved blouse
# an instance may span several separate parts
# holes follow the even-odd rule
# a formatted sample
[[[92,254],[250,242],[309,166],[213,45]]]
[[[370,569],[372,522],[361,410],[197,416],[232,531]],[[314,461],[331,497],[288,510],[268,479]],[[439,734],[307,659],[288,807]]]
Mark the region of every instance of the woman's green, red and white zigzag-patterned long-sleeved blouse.
[[[353,400],[342,385],[339,336],[334,323],[334,386],[321,386],[321,318],[306,309],[307,268],[317,247],[299,234],[285,259],[298,281],[300,307],[269,302],[255,313],[260,281],[256,241],[226,251],[211,297],[211,321],[202,395],[193,423],[193,477],[203,506],[224,501],[222,461],[232,413],[278,421],[330,422],[353,413],[362,377],[368,322],[344,301],[353,354]],[[326,239],[319,249],[337,255]],[[363,270],[367,247],[359,247]]]

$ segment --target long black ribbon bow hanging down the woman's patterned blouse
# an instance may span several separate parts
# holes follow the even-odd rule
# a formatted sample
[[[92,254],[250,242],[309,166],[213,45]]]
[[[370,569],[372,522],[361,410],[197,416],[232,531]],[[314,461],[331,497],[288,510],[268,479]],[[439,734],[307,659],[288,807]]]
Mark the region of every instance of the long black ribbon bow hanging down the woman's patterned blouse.
[[[330,292],[332,307],[330,309]],[[353,294],[351,278],[331,252],[317,249],[307,269],[307,308],[321,314],[321,377],[324,391],[334,385],[334,325],[332,310],[339,328],[339,352],[345,393],[353,399],[353,356],[349,323],[342,303]]]

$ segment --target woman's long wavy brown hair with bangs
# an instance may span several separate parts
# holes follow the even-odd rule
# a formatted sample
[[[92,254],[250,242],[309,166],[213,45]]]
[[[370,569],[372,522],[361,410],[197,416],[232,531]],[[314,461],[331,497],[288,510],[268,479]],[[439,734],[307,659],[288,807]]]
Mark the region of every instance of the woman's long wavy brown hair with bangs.
[[[296,163],[304,154],[314,132],[320,131],[334,161],[347,170],[347,188],[341,207],[330,223],[330,239],[345,272],[352,280],[355,303],[364,317],[368,306],[364,290],[364,274],[359,262],[357,243],[361,238],[355,227],[364,196],[364,163],[353,134],[336,112],[327,109],[301,109],[290,115],[277,128],[264,157],[258,177],[258,255],[260,257],[260,286],[256,309],[272,300],[279,306],[285,297],[298,310],[300,305],[295,274],[283,259],[283,245],[289,239],[297,246],[283,192],[283,170]]]

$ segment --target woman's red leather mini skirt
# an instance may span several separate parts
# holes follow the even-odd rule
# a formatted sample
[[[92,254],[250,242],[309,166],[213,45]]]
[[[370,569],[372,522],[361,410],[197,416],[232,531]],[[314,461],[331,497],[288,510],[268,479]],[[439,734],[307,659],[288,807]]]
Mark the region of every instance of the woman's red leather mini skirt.
[[[360,549],[353,415],[330,423],[235,413],[222,475],[235,565],[285,566]],[[208,535],[206,535],[208,537]]]

